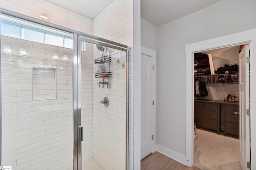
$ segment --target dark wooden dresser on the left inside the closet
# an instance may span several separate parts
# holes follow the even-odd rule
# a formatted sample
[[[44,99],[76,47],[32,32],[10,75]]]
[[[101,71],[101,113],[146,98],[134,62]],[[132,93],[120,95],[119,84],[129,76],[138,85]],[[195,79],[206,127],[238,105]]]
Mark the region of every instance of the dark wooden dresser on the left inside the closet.
[[[194,111],[197,127],[211,129],[220,134],[220,103],[214,100],[195,100]]]

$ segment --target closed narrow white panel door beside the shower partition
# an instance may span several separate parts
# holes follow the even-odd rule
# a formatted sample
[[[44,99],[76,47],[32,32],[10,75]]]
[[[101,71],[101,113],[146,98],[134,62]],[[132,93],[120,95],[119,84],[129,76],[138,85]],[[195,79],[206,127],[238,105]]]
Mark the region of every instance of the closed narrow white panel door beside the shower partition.
[[[153,150],[153,57],[141,55],[141,155],[143,159]]]

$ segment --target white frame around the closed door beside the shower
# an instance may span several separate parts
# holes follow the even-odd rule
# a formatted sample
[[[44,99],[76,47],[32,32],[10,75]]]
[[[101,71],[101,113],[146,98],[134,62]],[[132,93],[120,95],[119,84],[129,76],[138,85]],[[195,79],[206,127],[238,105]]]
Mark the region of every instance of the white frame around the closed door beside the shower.
[[[153,64],[154,64],[154,70],[153,70],[153,82],[154,82],[153,135],[154,135],[154,140],[153,140],[153,148],[152,148],[152,153],[154,153],[154,152],[156,152],[156,104],[157,104],[157,101],[156,101],[156,51],[149,49],[147,47],[141,46],[141,54],[153,57]]]

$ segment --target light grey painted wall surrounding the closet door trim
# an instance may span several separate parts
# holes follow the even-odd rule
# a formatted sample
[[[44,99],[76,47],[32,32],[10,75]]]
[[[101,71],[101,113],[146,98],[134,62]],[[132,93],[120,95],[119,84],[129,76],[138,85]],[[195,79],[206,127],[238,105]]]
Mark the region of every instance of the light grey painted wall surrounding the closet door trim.
[[[225,0],[157,28],[157,144],[186,163],[185,45],[256,27],[256,1]],[[218,46],[218,44],[216,44]],[[165,75],[165,76],[163,76]]]

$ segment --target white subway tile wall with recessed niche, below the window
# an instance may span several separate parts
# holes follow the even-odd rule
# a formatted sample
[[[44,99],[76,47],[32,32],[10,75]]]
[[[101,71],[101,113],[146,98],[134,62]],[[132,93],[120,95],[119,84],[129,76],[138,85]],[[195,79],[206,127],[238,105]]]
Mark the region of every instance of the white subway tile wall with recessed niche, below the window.
[[[1,36],[1,48],[6,44],[11,46],[12,55],[1,54],[2,165],[12,166],[13,170],[72,168],[72,49]],[[20,57],[17,51],[20,47],[30,55]],[[53,53],[68,55],[68,61],[52,60]],[[47,72],[42,74],[42,70]],[[46,82],[41,80],[42,75],[48,79]],[[51,84],[55,81],[56,99],[42,100],[52,97],[52,91],[45,91],[54,88]],[[33,101],[35,95],[40,100]],[[92,113],[89,115],[87,119],[92,119]],[[84,135],[92,139],[91,132]],[[92,147],[92,141],[85,147]]]

